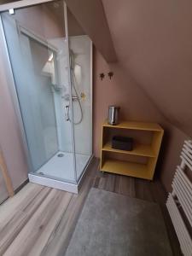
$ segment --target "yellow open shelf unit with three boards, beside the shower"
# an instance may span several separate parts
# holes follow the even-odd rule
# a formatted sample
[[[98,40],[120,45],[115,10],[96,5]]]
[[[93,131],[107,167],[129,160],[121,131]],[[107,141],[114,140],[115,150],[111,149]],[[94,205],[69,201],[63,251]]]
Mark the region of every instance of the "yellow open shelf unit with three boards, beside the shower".
[[[152,180],[163,133],[163,129],[156,123],[121,122],[119,125],[108,125],[105,122],[102,125],[100,170]],[[112,148],[113,135],[121,134],[133,137],[133,150]],[[143,138],[148,138],[148,141],[143,142]]]

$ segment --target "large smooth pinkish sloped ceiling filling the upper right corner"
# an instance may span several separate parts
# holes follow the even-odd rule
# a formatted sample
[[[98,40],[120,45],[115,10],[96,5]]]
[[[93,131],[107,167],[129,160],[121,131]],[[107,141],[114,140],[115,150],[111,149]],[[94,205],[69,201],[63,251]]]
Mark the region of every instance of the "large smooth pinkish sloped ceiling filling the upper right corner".
[[[102,0],[118,60],[192,137],[192,1]]]

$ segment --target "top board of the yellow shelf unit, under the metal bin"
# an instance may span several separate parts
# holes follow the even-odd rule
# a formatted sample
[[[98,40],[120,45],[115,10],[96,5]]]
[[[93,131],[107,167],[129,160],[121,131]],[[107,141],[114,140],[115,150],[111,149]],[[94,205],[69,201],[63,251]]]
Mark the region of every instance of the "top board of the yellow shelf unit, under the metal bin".
[[[121,122],[119,125],[109,125],[106,121],[103,124],[104,127],[119,128],[119,129],[131,129],[141,131],[163,131],[160,125],[156,123],[143,123],[143,122]]]

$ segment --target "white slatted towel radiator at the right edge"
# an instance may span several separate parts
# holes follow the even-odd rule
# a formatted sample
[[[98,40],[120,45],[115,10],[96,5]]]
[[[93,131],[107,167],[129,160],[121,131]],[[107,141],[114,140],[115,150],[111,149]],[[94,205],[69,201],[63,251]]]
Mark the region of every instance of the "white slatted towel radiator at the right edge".
[[[186,175],[188,167],[192,172],[192,141],[185,141],[181,152],[181,164],[177,166],[173,181],[172,193],[169,193],[166,207],[185,256],[192,256],[192,183]],[[192,176],[191,176],[192,177]]]

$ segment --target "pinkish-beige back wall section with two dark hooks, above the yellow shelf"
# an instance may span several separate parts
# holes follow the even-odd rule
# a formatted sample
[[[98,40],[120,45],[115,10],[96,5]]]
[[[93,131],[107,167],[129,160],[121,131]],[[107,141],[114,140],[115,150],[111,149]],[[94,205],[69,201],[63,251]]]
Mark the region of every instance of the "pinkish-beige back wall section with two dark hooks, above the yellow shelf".
[[[120,119],[160,122],[164,118],[131,76],[125,73],[118,63],[108,65],[96,49],[94,49],[93,68],[94,153],[99,156],[101,127],[103,120],[108,117],[108,105],[120,106]],[[114,73],[111,80],[108,78],[109,71]],[[99,78],[100,73],[105,73],[105,79]]]

